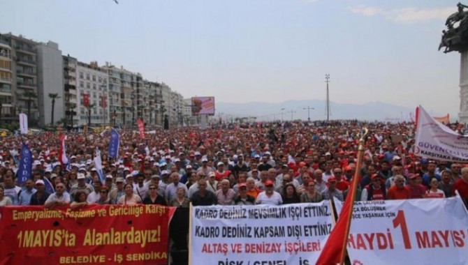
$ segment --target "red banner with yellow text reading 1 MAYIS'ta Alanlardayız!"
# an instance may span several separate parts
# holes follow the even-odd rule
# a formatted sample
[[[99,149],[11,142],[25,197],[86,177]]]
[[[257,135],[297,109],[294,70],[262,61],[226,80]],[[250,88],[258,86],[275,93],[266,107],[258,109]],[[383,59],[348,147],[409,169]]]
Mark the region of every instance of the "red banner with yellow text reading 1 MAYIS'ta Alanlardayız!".
[[[0,264],[167,264],[175,208],[0,207]]]

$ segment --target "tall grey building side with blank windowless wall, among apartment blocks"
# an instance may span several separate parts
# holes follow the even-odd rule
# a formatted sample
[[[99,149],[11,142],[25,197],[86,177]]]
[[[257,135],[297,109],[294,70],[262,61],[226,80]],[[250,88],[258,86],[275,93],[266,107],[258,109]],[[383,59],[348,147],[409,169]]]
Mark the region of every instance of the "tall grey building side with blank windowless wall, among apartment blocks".
[[[39,43],[36,51],[39,126],[54,125],[61,121],[65,114],[64,65],[61,50],[57,43],[49,41]]]

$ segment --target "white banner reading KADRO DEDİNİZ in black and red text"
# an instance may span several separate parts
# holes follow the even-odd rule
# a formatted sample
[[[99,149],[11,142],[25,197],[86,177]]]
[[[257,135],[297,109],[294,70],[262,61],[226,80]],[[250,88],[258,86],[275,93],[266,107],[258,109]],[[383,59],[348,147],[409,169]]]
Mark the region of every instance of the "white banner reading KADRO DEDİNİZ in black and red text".
[[[333,226],[330,202],[282,206],[197,206],[191,264],[316,263]]]

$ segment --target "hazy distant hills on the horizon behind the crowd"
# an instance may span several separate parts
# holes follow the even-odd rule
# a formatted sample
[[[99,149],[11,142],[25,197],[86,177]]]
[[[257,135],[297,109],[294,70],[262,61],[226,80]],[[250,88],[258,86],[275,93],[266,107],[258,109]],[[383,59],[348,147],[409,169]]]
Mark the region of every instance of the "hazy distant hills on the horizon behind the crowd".
[[[281,109],[284,108],[283,119],[307,120],[307,106],[314,107],[310,110],[311,120],[326,120],[325,100],[288,100],[283,103],[217,103],[216,115],[223,119],[235,117],[256,116],[258,121],[272,121],[281,119]],[[362,105],[330,103],[330,119],[359,119],[366,121],[410,121],[409,114],[414,109],[400,107],[388,103],[370,102]],[[416,107],[416,106],[415,106]],[[434,114],[436,116],[436,114]]]

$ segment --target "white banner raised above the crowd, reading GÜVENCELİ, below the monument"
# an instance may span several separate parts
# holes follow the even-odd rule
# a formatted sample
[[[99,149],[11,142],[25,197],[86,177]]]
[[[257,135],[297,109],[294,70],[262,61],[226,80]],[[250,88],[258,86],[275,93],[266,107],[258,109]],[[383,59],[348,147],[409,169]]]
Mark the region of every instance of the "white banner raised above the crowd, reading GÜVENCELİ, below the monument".
[[[468,137],[463,137],[419,106],[414,154],[442,161],[467,161]]]

